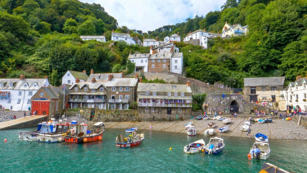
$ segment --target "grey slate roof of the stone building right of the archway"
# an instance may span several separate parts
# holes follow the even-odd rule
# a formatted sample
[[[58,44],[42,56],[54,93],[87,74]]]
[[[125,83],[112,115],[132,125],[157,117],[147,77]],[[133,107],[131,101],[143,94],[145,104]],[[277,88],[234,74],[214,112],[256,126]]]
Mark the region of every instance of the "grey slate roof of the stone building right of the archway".
[[[244,86],[277,86],[284,85],[285,77],[244,78]]]

